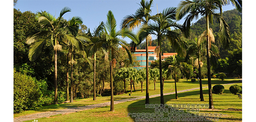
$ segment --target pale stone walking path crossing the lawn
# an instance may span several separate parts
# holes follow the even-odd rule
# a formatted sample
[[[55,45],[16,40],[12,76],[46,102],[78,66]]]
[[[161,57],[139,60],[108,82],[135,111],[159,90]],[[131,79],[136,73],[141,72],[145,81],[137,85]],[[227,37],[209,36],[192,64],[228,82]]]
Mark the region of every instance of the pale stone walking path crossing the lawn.
[[[242,79],[240,79],[240,81],[237,81],[235,83],[240,83],[240,82],[242,82]],[[230,83],[230,84],[235,84],[235,83]],[[222,84],[222,85],[228,85],[228,84]],[[208,88],[208,86],[203,87],[203,88]],[[177,93],[181,93],[181,92],[185,92],[185,91],[192,91],[192,90],[196,90],[196,89],[200,89],[200,88],[180,90],[180,91],[177,91]],[[175,92],[164,93],[164,95],[170,95],[170,94],[175,94]],[[155,95],[150,95],[149,98],[159,97],[159,96],[160,96],[160,94],[155,94]],[[119,103],[138,100],[138,99],[145,99],[145,98],[146,98],[145,96],[138,96],[136,98],[121,99],[121,100],[114,101],[114,104],[119,104]],[[13,118],[13,122],[23,122],[23,121],[27,121],[27,120],[39,119],[42,117],[50,117],[50,116],[57,115],[57,114],[68,114],[68,113],[79,112],[79,111],[84,111],[84,110],[88,110],[88,109],[94,109],[94,108],[98,108],[98,107],[105,107],[105,106],[109,106],[109,105],[110,105],[110,102],[104,102],[104,103],[99,103],[99,104],[86,105],[83,107],[74,107],[74,108],[61,109],[61,110],[56,110],[56,111],[51,111],[51,112],[42,112],[42,113],[31,114],[31,115],[26,115],[26,116],[21,116],[21,117],[15,117],[15,118]]]

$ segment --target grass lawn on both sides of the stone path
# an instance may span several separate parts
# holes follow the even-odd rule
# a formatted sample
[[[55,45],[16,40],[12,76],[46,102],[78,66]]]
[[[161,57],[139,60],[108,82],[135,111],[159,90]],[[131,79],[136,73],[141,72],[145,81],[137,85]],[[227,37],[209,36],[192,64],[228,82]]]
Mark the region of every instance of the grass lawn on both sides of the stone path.
[[[238,81],[238,79],[225,79],[225,81],[221,81],[218,79],[212,79],[212,86],[215,84],[227,84]],[[202,81],[203,87],[208,86],[207,79],[203,79]],[[242,85],[239,83],[238,85]],[[242,100],[239,99],[236,95],[232,95],[229,92],[229,86],[231,85],[225,85],[225,91],[224,94],[213,94],[214,99],[214,107],[216,109],[213,109],[211,112],[217,112],[221,110],[223,114],[227,114],[228,117],[225,117],[226,119],[223,119],[224,122],[229,122],[231,119],[236,119],[240,121],[242,118],[242,112],[236,112],[236,111],[229,111],[228,108],[235,108],[235,109],[242,109]],[[145,87],[145,86],[143,86]],[[183,90],[183,89],[191,89],[191,88],[197,88],[199,87],[199,82],[191,82],[186,81],[185,79],[181,79],[177,83],[177,89]],[[156,82],[156,91],[154,91],[154,84],[151,83],[149,85],[149,95],[159,94],[160,88],[159,88],[159,81]],[[165,96],[165,102],[166,104],[208,104],[208,88],[203,89],[204,90],[204,102],[200,102],[199,99],[199,89],[194,91],[188,91],[184,93],[178,94],[178,99],[175,99],[175,94],[167,95]],[[164,93],[175,91],[174,89],[174,81],[173,80],[166,80],[164,84]],[[132,96],[144,96],[145,95],[145,89],[141,93],[140,85],[136,86],[136,91],[133,91]],[[125,97],[126,96],[126,97]],[[116,95],[114,97],[115,100],[119,99],[127,99],[128,94],[120,94]],[[110,97],[97,97],[96,101],[93,101],[93,98],[87,98],[87,99],[78,99],[76,102],[73,103],[65,103],[65,104],[57,104],[57,105],[50,105],[41,107],[37,110],[31,110],[31,111],[25,111],[20,114],[14,114],[14,117],[24,116],[27,114],[34,114],[38,112],[46,112],[46,111],[54,111],[59,109],[66,109],[66,108],[72,108],[72,107],[78,107],[78,106],[84,106],[89,104],[97,104],[102,102],[109,102]],[[159,104],[160,98],[151,98],[150,103],[151,104]],[[101,107],[96,109],[90,109],[86,111],[66,114],[66,115],[57,115],[53,118],[40,118],[39,122],[87,122],[87,121],[100,121],[100,122],[106,122],[106,121],[120,121],[123,122],[133,122],[135,121],[135,118],[133,117],[127,117],[128,113],[142,113],[142,112],[150,112],[154,113],[154,109],[145,109],[145,100],[136,100],[131,102],[125,102],[121,104],[115,105],[115,112],[109,112],[110,107]],[[201,109],[200,112],[209,112],[209,109]]]

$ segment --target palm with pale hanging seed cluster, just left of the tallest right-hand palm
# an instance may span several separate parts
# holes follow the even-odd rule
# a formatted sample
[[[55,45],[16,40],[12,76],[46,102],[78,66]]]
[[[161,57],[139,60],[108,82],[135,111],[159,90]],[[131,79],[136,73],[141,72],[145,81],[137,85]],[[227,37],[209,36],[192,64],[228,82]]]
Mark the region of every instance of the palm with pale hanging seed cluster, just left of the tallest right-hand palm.
[[[210,35],[210,41],[214,42],[214,36],[212,33],[212,29],[209,29],[209,35]],[[188,44],[188,50],[187,50],[187,55],[186,55],[186,59],[188,60],[189,57],[192,56],[196,56],[197,59],[195,61],[195,65],[196,67],[198,67],[198,71],[199,71],[199,84],[200,84],[200,100],[204,101],[204,96],[203,96],[203,88],[202,88],[202,79],[201,79],[201,67],[202,67],[202,63],[201,62],[201,57],[205,56],[206,54],[206,31],[204,31],[204,33],[201,34],[201,36],[199,36],[199,38],[195,38],[194,41],[189,42]],[[211,43],[210,46],[210,53],[211,53],[211,58],[212,59],[216,59],[215,57],[218,56],[219,53],[219,49],[217,48],[216,45],[214,45],[213,43]],[[213,60],[211,60],[213,62]],[[214,61],[216,62],[216,61]],[[215,64],[215,63],[213,63]]]

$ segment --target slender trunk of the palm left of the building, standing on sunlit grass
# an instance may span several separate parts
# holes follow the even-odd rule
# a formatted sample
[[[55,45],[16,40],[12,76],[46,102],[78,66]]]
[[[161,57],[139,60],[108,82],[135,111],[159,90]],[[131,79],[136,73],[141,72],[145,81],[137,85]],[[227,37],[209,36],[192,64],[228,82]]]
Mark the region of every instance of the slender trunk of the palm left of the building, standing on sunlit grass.
[[[111,99],[110,99],[110,111],[115,112],[114,107],[114,90],[113,90],[113,76],[112,76],[112,59],[111,59],[111,49],[109,51],[110,54],[110,92],[111,92]]]

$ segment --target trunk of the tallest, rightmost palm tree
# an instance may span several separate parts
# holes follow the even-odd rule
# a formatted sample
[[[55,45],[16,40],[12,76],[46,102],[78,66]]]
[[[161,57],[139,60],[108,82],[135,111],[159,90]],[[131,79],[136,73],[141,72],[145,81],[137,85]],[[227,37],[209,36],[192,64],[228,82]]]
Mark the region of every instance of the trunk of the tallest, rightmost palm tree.
[[[210,42],[209,42],[209,16],[206,16],[206,41],[207,41],[207,77],[208,77],[208,91],[209,91],[209,109],[214,109],[212,99],[212,81],[211,81],[211,66],[210,66]]]

